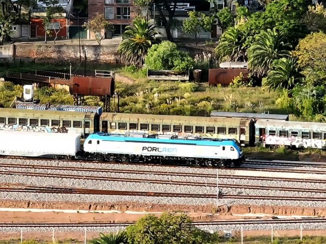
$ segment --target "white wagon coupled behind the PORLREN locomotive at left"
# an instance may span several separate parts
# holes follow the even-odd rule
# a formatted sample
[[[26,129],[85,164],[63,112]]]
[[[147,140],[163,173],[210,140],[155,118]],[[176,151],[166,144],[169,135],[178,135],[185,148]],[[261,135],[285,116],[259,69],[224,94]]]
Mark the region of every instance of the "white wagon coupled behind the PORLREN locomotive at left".
[[[0,131],[0,155],[75,156],[79,149],[80,134]]]

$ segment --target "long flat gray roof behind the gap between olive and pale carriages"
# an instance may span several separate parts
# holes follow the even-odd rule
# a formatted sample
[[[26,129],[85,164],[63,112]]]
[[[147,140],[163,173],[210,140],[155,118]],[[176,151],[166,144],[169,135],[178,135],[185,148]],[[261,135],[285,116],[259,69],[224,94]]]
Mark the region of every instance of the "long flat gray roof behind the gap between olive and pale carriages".
[[[266,113],[237,113],[237,112],[212,112],[211,117],[226,117],[226,118],[253,118],[253,119],[280,119],[289,120],[287,114],[266,114]]]

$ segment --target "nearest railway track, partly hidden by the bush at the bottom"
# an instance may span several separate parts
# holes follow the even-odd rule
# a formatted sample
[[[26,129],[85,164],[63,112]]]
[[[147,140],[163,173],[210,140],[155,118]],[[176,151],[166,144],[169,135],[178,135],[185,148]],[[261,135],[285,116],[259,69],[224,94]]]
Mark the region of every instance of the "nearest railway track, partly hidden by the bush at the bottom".
[[[271,224],[317,224],[326,223],[323,218],[307,219],[268,219],[268,220],[227,220],[194,221],[196,226],[231,226],[231,225],[271,225]],[[0,228],[91,228],[91,227],[127,227],[134,222],[125,223],[0,223]]]

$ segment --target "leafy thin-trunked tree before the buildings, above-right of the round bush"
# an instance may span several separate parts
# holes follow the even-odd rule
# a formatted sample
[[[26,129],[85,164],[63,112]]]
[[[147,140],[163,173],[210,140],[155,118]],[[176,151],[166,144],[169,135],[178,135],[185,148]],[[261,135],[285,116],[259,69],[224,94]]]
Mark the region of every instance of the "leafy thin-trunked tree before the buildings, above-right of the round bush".
[[[195,34],[197,44],[199,42],[199,33],[201,31],[210,32],[215,17],[196,11],[189,11],[188,14],[189,17],[182,22],[182,29],[187,34]]]

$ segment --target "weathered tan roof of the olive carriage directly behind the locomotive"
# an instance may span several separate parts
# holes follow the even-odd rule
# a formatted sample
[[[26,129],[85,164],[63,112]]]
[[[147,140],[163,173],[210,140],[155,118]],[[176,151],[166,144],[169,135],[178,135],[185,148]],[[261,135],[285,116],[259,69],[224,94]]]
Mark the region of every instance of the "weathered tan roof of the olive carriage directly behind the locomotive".
[[[180,115],[160,115],[160,114],[132,114],[132,113],[102,113],[101,119],[112,120],[114,119],[125,119],[130,121],[130,123],[138,123],[139,119],[142,119],[147,123],[154,123],[156,120],[160,121],[174,121],[174,123],[189,123],[191,121],[192,125],[199,125],[200,123],[216,123],[226,124],[232,126],[239,126],[241,121],[247,121],[247,123],[252,120],[251,118],[223,118],[223,117],[204,117],[204,116],[180,116]]]

